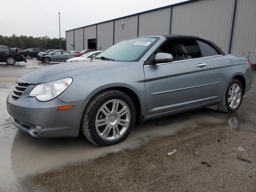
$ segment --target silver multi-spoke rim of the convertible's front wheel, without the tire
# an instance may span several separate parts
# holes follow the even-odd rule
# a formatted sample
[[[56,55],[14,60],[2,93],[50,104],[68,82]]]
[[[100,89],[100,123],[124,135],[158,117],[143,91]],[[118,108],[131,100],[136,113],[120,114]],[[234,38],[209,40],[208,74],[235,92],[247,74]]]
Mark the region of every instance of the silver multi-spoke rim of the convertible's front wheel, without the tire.
[[[96,115],[98,135],[108,141],[120,138],[130,124],[130,109],[122,100],[113,99],[103,104]]]

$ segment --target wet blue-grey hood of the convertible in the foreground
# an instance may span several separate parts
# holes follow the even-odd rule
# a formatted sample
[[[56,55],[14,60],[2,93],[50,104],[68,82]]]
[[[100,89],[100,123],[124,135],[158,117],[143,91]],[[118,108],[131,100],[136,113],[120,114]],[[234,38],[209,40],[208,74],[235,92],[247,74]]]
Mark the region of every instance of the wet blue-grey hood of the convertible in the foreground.
[[[66,77],[75,78],[76,76],[81,75],[89,78],[90,76],[99,74],[100,71],[107,72],[108,69],[117,68],[124,63],[126,62],[88,60],[74,63],[54,64],[52,66],[28,72],[20,76],[20,79],[29,82],[30,84],[39,84]]]

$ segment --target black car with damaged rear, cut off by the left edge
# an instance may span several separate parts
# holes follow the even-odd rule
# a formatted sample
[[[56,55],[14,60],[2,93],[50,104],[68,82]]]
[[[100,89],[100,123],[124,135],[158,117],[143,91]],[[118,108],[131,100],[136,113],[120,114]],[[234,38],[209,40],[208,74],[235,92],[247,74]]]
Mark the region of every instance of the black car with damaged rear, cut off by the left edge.
[[[19,50],[15,48],[15,50],[0,45],[0,62],[5,62],[10,65],[14,65],[16,61],[24,61],[27,62],[27,60],[20,54]]]

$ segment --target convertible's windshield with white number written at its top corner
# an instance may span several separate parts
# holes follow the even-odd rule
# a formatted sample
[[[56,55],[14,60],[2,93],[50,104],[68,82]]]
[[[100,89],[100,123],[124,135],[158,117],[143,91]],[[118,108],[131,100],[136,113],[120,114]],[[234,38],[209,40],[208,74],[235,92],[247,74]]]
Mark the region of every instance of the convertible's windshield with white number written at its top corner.
[[[124,40],[101,52],[94,58],[100,59],[105,57],[115,61],[134,61],[150,48],[156,40],[157,38],[154,37]]]

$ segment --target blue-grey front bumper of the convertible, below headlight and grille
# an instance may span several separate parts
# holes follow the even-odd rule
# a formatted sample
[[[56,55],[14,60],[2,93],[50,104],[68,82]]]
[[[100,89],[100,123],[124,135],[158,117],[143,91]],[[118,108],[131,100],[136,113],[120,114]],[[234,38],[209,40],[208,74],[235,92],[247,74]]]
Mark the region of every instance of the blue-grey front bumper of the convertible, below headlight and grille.
[[[34,97],[23,95],[14,100],[11,94],[6,101],[12,123],[20,130],[37,138],[78,136],[82,114],[87,103],[87,100],[65,103],[58,98],[40,102]],[[69,105],[74,107],[70,110],[57,111],[60,106]]]

